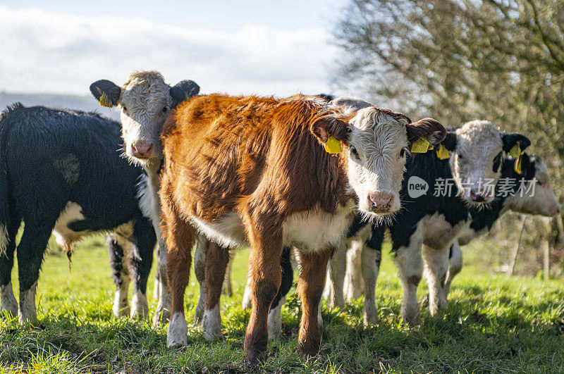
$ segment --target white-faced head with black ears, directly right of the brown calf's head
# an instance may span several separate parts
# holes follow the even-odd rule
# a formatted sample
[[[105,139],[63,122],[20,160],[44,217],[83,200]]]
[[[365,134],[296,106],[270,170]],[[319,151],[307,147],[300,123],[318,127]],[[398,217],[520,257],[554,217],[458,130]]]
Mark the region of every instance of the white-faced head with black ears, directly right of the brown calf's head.
[[[449,131],[443,145],[450,151],[450,170],[462,199],[472,204],[493,201],[503,152],[510,153],[516,145],[523,151],[529,144],[525,135],[504,134],[486,120]]]

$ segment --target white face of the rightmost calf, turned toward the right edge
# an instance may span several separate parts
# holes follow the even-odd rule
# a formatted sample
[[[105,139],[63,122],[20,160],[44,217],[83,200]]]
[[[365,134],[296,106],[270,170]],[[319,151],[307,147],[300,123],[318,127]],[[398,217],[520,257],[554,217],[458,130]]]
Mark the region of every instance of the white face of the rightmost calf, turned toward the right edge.
[[[533,161],[534,160],[534,161]],[[560,213],[560,204],[551,186],[546,164],[540,158],[532,158],[534,162],[534,180],[527,181],[524,192],[515,192],[507,199],[508,208],[526,214],[539,214],[553,217]],[[532,184],[535,184],[532,186]]]

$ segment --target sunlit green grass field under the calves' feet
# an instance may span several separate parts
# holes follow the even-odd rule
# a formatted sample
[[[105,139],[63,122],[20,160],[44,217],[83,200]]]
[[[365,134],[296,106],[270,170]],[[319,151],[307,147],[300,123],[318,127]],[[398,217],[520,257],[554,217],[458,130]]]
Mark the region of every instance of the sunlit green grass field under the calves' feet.
[[[54,243],[53,243],[54,244]],[[55,245],[51,246],[56,248]],[[466,268],[453,283],[443,318],[422,308],[422,325],[400,322],[401,289],[384,252],[377,289],[379,323],[362,328],[362,299],[343,310],[323,309],[321,352],[305,361],[297,349],[300,308],[292,296],[283,308],[284,337],[269,345],[261,370],[276,373],[564,371],[564,281],[479,274]],[[245,372],[243,337],[249,311],[240,306],[247,251],[235,256],[235,295],[223,297],[225,339],[206,342],[189,327],[188,347],[166,349],[166,328],[112,317],[109,258],[101,237],[73,255],[46,257],[38,289],[39,328],[0,319],[0,373],[213,373]],[[14,270],[13,277],[17,271]],[[152,294],[154,273],[149,281]],[[17,294],[17,281],[16,294]],[[427,293],[419,287],[419,299]],[[150,299],[150,298],[149,298]],[[187,292],[193,322],[197,286]],[[149,307],[154,308],[154,301]]]

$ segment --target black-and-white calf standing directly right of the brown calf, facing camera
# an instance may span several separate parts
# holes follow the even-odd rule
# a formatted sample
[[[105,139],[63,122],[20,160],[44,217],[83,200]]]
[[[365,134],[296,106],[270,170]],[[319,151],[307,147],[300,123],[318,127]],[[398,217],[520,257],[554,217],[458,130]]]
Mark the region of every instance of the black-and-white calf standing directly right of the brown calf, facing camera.
[[[441,144],[448,150],[449,158],[439,158],[441,147],[426,154],[410,155],[400,192],[405,208],[393,222],[374,225],[372,232],[367,232],[367,223],[364,227],[359,225],[360,240],[370,237],[369,247],[373,249],[379,248],[386,227],[391,232],[392,249],[403,285],[402,316],[407,323],[416,324],[419,320],[417,286],[423,263],[429,280],[431,315],[441,313],[446,306],[443,282],[450,244],[470,223],[468,207],[494,200],[503,152],[509,152],[516,144],[523,150],[530,142],[520,134],[503,134],[487,121],[472,121],[450,130]],[[436,187],[440,187],[439,191]],[[343,245],[341,251],[345,250]],[[342,280],[338,278],[344,273],[344,262],[339,260],[343,254],[336,256],[337,260],[331,261],[330,276],[335,277],[333,284],[336,283],[338,289],[332,292],[333,300],[329,304],[339,306],[343,298],[337,297],[342,292]],[[367,283],[375,285],[379,256],[378,251],[362,251],[361,268]],[[366,298],[373,299],[374,287],[367,284],[365,289]],[[375,318],[374,303],[366,302],[365,322],[373,322]]]

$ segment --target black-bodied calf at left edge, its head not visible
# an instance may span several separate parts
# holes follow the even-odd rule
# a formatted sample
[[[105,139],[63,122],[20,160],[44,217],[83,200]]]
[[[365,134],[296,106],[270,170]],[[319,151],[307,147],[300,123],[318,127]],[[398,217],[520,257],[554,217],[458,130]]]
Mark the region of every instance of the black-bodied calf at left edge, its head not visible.
[[[20,282],[19,319],[37,320],[35,292],[51,232],[70,255],[92,232],[111,232],[122,256],[111,257],[114,313],[128,313],[127,285],[135,284],[132,316],[146,316],[147,278],[156,243],[152,223],[140,210],[142,170],[121,157],[120,125],[95,113],[26,108],[15,104],[0,115],[0,311],[16,316],[11,270],[16,233]],[[128,258],[131,256],[131,263]]]

